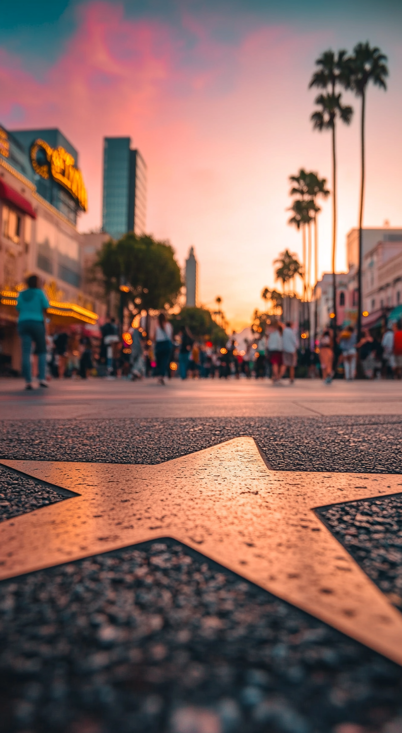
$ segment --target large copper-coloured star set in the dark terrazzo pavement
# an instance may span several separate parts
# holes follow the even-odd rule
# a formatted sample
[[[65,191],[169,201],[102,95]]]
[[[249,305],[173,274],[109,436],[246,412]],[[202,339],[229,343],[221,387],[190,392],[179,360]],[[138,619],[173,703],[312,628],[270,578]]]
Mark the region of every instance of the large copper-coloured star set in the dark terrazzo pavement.
[[[159,465],[1,463],[76,496],[0,524],[0,578],[172,537],[402,664],[402,614],[314,512],[401,476],[269,471],[252,438]]]

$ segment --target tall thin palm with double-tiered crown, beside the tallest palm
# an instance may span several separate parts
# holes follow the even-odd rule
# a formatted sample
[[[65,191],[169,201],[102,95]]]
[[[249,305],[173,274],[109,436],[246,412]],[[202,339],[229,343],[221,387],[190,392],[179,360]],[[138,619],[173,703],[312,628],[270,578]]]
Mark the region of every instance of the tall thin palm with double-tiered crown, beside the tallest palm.
[[[335,147],[335,128],[337,119],[349,125],[353,114],[350,106],[344,106],[341,102],[342,95],[337,93],[338,86],[348,86],[349,65],[346,59],[346,51],[324,51],[315,62],[318,70],[313,74],[309,89],[317,86],[318,89],[325,89],[325,94],[315,98],[315,104],[319,109],[311,115],[313,128],[316,130],[332,130],[332,288],[334,295],[334,334],[337,328],[337,282],[335,276],[335,254],[337,237],[337,158]]]

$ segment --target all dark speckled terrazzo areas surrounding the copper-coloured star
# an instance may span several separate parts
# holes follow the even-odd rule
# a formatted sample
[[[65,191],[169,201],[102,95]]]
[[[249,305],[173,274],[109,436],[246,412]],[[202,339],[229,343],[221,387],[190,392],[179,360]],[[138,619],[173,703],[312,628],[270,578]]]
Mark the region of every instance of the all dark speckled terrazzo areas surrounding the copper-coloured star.
[[[236,435],[279,470],[401,472],[381,418],[8,422],[2,454],[159,463]],[[64,498],[0,481],[4,519]],[[401,605],[402,496],[318,514]],[[177,542],[4,581],[0,611],[4,733],[402,733],[400,667]]]

